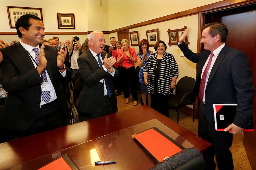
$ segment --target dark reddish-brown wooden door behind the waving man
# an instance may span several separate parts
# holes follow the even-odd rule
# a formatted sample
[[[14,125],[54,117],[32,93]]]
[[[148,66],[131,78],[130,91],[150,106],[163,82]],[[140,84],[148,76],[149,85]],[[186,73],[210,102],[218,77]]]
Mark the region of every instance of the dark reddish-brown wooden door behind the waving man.
[[[204,24],[222,22],[227,25],[227,45],[246,53],[252,68],[252,81],[256,90],[256,4],[236,7],[204,15]],[[256,95],[252,112],[254,127],[256,127]],[[254,128],[256,129],[256,128]],[[244,148],[246,150],[252,170],[256,169],[256,132],[245,132]]]

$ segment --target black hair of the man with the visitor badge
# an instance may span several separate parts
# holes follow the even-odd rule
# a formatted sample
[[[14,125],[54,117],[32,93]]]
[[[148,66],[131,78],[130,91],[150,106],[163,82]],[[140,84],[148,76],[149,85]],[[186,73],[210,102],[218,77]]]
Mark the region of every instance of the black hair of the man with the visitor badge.
[[[30,18],[33,18],[35,20],[39,20],[41,21],[41,19],[35,15],[31,15],[31,14],[25,14],[25,15],[22,15],[16,22],[15,24],[15,27],[16,27],[16,30],[17,30],[17,34],[18,36],[21,38],[22,37],[22,33],[20,33],[20,27],[23,27],[25,30],[29,30],[29,27],[32,25],[30,22],[29,22],[29,19]]]

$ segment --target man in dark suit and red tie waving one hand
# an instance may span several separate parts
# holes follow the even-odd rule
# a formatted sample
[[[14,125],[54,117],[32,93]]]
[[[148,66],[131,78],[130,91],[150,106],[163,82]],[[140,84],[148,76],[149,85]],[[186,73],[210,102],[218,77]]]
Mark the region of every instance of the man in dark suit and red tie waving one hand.
[[[216,169],[216,155],[219,170],[232,170],[234,166],[229,148],[233,134],[242,134],[252,116],[254,89],[251,67],[246,54],[225,43],[226,25],[215,22],[203,27],[200,43],[205,51],[198,54],[183,42],[188,32],[187,28],[181,35],[178,47],[190,61],[198,63],[193,89],[200,100],[198,136],[212,144],[203,152],[205,169]],[[225,132],[215,130],[213,104],[237,104],[234,121]]]

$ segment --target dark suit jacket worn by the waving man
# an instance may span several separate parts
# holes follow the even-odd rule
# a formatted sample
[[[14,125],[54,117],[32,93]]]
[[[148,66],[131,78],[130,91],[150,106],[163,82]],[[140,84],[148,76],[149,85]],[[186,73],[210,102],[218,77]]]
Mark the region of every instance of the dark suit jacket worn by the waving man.
[[[178,45],[190,61],[198,63],[194,94],[199,94],[201,71],[210,51],[195,54],[183,42]],[[234,124],[248,128],[252,116],[254,88],[252,72],[245,53],[225,45],[212,67],[205,92],[205,113],[208,122],[214,126],[213,104],[237,104]]]

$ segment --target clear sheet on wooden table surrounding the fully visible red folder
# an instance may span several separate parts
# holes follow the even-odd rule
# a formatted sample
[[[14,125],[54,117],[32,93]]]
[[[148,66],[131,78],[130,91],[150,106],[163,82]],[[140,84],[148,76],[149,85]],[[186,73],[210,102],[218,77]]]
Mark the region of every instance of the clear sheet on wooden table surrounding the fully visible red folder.
[[[151,127],[157,127],[184,148],[192,148],[194,146],[157,119],[152,119],[97,138],[106,160],[117,161],[116,164],[109,164],[111,170],[129,170],[138,169],[138,167],[140,169],[150,169],[156,164],[132,139],[132,135],[150,129]]]

